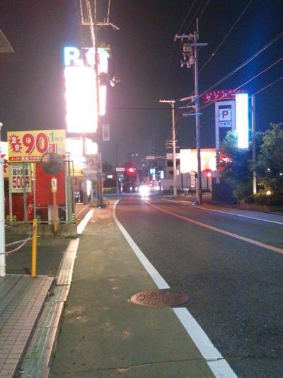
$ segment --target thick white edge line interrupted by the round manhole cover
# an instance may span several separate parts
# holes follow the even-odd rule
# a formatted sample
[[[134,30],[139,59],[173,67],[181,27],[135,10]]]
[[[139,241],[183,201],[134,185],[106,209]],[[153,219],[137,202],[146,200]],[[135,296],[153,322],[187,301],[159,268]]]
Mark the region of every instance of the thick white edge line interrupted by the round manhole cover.
[[[139,258],[142,265],[146,269],[147,273],[151,276],[152,280],[154,280],[158,289],[170,289],[170,286],[167,282],[163,279],[163,277],[158,273],[154,265],[152,265],[149,260],[144,256],[144,253],[141,252],[140,248],[134,242],[131,236],[129,236],[126,229],[122,226],[122,224],[118,221],[116,216],[116,205],[120,200],[115,202],[113,207],[113,218],[119,227],[122,234],[125,236],[125,239],[129,243],[129,246],[132,248],[134,253],[136,254],[137,258]],[[146,201],[147,202],[147,201]],[[204,360],[207,362],[210,370],[212,370],[214,377],[217,378],[234,378],[237,377],[236,374],[233,372],[231,367],[229,366],[228,362],[222,357],[219,350],[217,350],[212,342],[209,340],[207,334],[204,332],[202,327],[197,323],[195,318],[190,314],[185,308],[175,308],[173,309],[175,315],[178,317],[180,323],[182,323],[183,327],[187,331],[188,335],[195,343],[198,350]]]

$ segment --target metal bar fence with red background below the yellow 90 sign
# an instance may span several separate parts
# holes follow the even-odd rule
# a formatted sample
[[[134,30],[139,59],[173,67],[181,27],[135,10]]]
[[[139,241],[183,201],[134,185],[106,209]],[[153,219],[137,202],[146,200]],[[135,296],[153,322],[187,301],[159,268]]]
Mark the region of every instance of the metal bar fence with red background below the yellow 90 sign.
[[[39,223],[53,222],[51,178],[57,178],[57,222],[74,222],[74,190],[72,161],[64,161],[58,175],[45,173],[40,163],[8,162],[4,177],[6,222]]]

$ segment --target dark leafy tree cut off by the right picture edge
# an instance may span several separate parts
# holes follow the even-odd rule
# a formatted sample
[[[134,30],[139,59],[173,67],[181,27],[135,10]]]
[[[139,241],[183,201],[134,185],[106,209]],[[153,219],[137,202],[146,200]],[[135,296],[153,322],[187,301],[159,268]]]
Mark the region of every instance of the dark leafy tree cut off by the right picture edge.
[[[271,123],[261,133],[260,153],[253,165],[259,184],[264,190],[283,193],[283,128],[282,123]]]

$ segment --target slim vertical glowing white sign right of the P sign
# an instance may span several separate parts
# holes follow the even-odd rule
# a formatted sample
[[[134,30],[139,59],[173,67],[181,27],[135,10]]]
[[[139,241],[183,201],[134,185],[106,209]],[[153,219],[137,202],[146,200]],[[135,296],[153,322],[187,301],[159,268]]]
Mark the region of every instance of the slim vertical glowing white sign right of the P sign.
[[[236,94],[236,132],[238,148],[248,148],[248,93]]]

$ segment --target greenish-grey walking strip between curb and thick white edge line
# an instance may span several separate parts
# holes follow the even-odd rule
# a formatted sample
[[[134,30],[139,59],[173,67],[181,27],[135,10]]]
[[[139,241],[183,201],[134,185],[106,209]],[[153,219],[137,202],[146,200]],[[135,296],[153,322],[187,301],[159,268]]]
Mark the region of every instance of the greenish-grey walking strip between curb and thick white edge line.
[[[113,219],[94,211],[80,238],[50,377],[213,377],[170,307],[133,294],[157,290]]]

